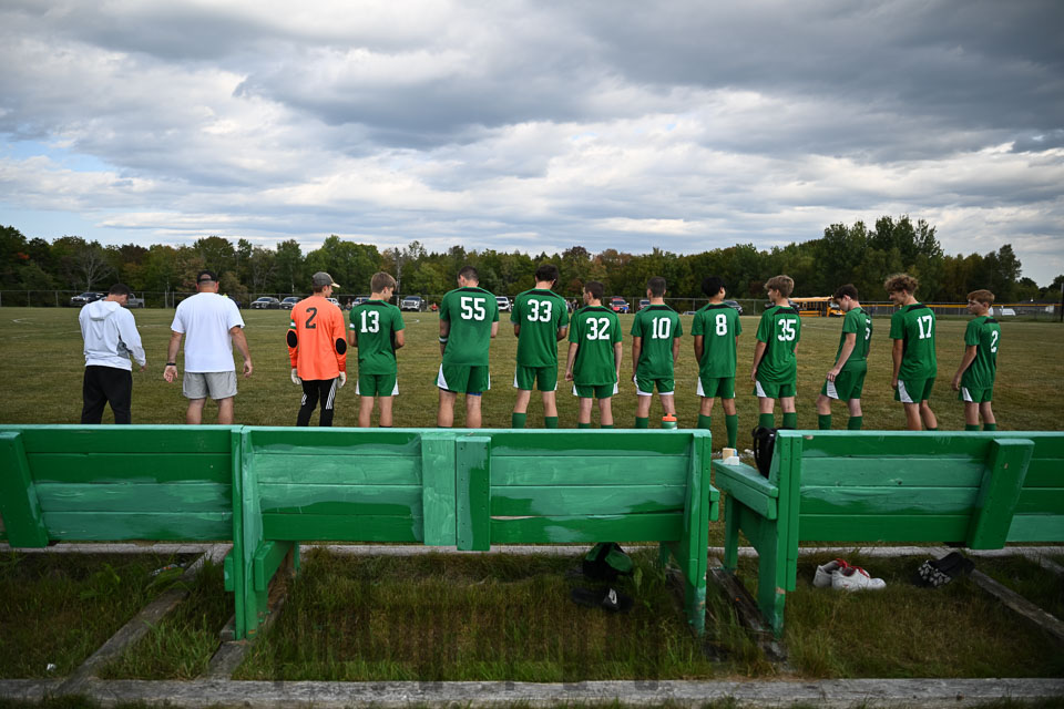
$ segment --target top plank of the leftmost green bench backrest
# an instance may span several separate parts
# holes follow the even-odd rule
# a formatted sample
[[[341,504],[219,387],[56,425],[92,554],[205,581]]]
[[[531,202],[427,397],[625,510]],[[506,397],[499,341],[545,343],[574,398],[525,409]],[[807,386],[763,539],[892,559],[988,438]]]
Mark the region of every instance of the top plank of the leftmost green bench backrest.
[[[228,453],[227,425],[25,425],[28,453]]]

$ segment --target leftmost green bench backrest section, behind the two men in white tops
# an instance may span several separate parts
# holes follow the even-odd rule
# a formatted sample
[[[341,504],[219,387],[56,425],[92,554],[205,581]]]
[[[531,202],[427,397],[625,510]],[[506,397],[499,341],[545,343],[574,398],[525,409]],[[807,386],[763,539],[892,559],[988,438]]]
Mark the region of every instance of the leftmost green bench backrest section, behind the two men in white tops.
[[[12,546],[225,541],[231,427],[0,427],[0,514]]]

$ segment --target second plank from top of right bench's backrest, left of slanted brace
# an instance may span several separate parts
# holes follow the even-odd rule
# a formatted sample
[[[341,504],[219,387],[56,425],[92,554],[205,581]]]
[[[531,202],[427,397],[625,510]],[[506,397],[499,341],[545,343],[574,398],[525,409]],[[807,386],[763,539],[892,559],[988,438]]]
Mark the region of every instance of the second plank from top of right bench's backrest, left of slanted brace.
[[[801,484],[843,487],[979,487],[983,458],[804,458]]]

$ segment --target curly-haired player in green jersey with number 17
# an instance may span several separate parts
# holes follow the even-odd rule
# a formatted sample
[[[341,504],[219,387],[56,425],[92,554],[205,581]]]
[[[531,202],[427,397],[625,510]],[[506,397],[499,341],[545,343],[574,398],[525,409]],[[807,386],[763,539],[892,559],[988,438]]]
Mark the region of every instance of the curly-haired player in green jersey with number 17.
[[[894,341],[891,357],[894,373],[890,386],[894,401],[906,408],[906,427],[921,430],[921,420],[929,431],[937,431],[939,421],[928,405],[939,364],[934,356],[934,312],[918,302],[913,294],[920,282],[908,274],[890,276],[883,288],[891,301],[899,306],[890,316],[890,339]]]

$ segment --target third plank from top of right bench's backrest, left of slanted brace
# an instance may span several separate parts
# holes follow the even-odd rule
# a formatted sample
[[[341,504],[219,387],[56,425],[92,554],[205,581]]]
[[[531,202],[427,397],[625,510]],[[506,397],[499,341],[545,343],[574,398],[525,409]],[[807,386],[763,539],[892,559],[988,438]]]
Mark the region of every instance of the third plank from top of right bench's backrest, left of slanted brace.
[[[801,489],[801,515],[971,515],[974,487],[816,487]]]

